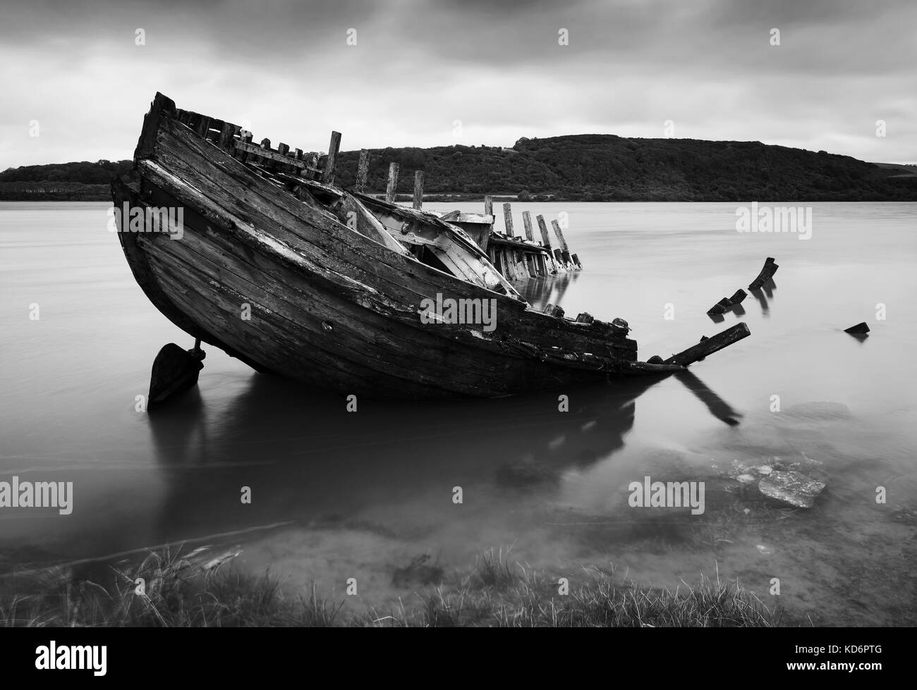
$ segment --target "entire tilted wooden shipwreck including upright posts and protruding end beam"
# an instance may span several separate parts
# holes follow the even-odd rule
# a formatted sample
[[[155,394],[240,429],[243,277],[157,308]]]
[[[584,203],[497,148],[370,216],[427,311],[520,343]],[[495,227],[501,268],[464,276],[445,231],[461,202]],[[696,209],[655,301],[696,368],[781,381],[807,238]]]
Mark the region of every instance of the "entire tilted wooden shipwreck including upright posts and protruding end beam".
[[[181,352],[160,362],[167,393],[196,382],[201,342],[325,389],[437,398],[667,374],[748,334],[742,323],[680,359],[638,362],[623,320],[537,311],[514,289],[514,279],[580,268],[559,232],[552,251],[543,219],[539,244],[527,214],[527,238],[511,236],[508,207],[503,235],[492,209],[425,213],[421,175],[414,208],[393,203],[391,174],[384,200],[368,195],[366,151],[355,188],[342,189],[339,143],[333,133],[323,155],[253,144],[239,126],[157,94],[135,151],[139,182],[113,181],[112,192],[138,284],[198,341],[187,364]],[[140,217],[160,219],[160,231],[138,232]]]

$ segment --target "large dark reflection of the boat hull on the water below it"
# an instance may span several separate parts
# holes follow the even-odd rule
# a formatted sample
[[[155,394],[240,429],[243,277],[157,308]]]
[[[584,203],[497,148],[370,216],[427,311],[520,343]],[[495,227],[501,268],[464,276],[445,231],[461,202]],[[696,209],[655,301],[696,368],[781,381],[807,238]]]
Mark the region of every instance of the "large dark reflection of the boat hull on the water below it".
[[[451,403],[310,395],[271,375],[212,419],[193,391],[149,416],[169,471],[159,516],[163,541],[283,520],[333,520],[407,499],[447,496],[478,483],[550,490],[571,467],[624,446],[635,399],[657,379],[577,389],[569,411],[557,395]],[[242,504],[242,487],[252,501]],[[468,490],[466,488],[466,490]]]

